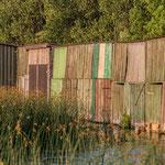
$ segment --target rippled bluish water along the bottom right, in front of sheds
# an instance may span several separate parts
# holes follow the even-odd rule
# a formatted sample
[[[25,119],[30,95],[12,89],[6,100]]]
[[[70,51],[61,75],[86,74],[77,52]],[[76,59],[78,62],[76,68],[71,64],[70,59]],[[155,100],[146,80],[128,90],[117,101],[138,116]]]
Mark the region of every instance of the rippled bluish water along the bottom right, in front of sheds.
[[[92,151],[76,153],[74,157],[42,157],[41,165],[164,165],[164,135],[158,136],[155,134],[150,139],[144,136],[113,146],[95,147]]]

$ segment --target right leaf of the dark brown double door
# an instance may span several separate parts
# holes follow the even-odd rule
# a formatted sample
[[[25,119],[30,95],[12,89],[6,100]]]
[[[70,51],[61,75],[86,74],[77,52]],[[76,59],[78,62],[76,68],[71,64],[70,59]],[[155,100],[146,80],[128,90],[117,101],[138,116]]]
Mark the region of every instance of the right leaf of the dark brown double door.
[[[38,65],[38,90],[47,95],[47,65]]]

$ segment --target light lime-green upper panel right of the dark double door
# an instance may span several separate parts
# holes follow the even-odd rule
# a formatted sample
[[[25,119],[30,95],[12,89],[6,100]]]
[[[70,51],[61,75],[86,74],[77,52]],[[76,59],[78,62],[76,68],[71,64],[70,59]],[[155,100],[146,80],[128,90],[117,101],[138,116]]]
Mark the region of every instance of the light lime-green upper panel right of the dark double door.
[[[67,47],[56,47],[54,55],[53,78],[64,78]]]

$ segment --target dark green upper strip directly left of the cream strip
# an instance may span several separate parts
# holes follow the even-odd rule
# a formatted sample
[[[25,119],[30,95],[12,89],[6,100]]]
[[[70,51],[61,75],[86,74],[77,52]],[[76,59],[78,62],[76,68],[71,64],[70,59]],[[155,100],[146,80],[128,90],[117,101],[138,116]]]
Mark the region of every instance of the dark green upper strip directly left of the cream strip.
[[[98,78],[100,44],[94,44],[92,78]]]

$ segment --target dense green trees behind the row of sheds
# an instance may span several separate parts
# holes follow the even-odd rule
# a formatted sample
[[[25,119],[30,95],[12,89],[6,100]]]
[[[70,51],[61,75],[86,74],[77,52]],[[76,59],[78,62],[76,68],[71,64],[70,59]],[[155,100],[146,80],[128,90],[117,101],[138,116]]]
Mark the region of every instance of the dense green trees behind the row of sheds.
[[[0,42],[131,41],[165,34],[165,0],[0,0]]]

